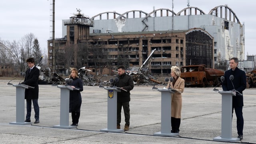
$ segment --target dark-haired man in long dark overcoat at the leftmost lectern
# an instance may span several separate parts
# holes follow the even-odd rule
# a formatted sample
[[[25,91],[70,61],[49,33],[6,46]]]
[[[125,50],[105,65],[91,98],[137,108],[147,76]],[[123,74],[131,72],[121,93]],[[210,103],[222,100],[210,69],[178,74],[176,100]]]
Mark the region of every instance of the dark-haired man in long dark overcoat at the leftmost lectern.
[[[38,76],[40,74],[40,70],[35,66],[34,58],[28,58],[26,60],[29,69],[26,70],[26,76],[24,82],[22,84],[26,84],[28,86],[32,86],[34,88],[28,88],[25,90],[25,99],[27,102],[27,114],[25,122],[31,122],[31,104],[33,102],[34,111],[35,111],[35,119],[34,124],[39,123],[39,106],[38,106]],[[32,102],[31,102],[32,101]]]

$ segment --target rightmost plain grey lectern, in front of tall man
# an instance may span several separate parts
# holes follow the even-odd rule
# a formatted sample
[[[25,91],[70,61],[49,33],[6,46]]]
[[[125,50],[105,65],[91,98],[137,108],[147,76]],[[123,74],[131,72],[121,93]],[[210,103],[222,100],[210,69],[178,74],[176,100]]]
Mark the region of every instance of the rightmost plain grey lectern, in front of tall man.
[[[232,138],[232,96],[236,96],[236,92],[219,91],[219,93],[222,95],[221,136],[213,140],[237,142],[240,138]]]

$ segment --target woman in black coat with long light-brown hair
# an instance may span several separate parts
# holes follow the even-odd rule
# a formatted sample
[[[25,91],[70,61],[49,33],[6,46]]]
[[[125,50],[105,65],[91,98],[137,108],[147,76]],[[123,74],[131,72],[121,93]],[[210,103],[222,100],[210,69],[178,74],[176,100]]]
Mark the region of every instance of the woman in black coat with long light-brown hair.
[[[75,68],[71,70],[69,78],[73,80],[73,82],[70,82],[69,85],[74,88],[73,90],[70,90],[69,93],[69,112],[71,112],[72,116],[71,126],[78,126],[80,108],[82,104],[80,92],[83,91],[83,82],[80,78],[78,78],[78,70]]]

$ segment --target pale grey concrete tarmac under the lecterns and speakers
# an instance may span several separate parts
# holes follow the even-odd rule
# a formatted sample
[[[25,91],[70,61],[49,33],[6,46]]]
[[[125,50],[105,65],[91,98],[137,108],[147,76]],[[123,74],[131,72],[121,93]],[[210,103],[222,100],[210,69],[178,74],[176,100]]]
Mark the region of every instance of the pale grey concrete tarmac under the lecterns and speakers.
[[[60,88],[39,85],[40,123],[14,125],[16,121],[16,88],[0,81],[0,144],[228,144],[216,142],[221,136],[221,94],[214,87],[185,88],[182,93],[180,135],[154,136],[161,131],[161,93],[152,86],[135,86],[131,91],[130,130],[101,132],[107,128],[107,90],[84,86],[78,126],[54,128],[60,124]],[[18,84],[19,80],[13,80]],[[163,88],[164,86],[156,86]],[[221,87],[217,89],[222,90]],[[25,100],[24,100],[25,103]],[[244,90],[244,139],[233,143],[256,144],[256,88]],[[26,115],[26,103],[25,114]],[[69,122],[71,122],[69,114]],[[121,128],[124,128],[122,112]],[[236,116],[232,120],[232,138],[236,138]]]

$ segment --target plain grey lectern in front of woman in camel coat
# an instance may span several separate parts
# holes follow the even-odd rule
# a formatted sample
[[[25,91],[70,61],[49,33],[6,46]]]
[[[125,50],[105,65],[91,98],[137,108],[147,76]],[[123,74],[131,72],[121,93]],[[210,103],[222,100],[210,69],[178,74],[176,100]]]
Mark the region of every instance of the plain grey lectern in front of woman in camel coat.
[[[154,136],[178,136],[179,133],[171,132],[171,94],[172,89],[157,89],[161,92],[161,132],[156,132]]]

